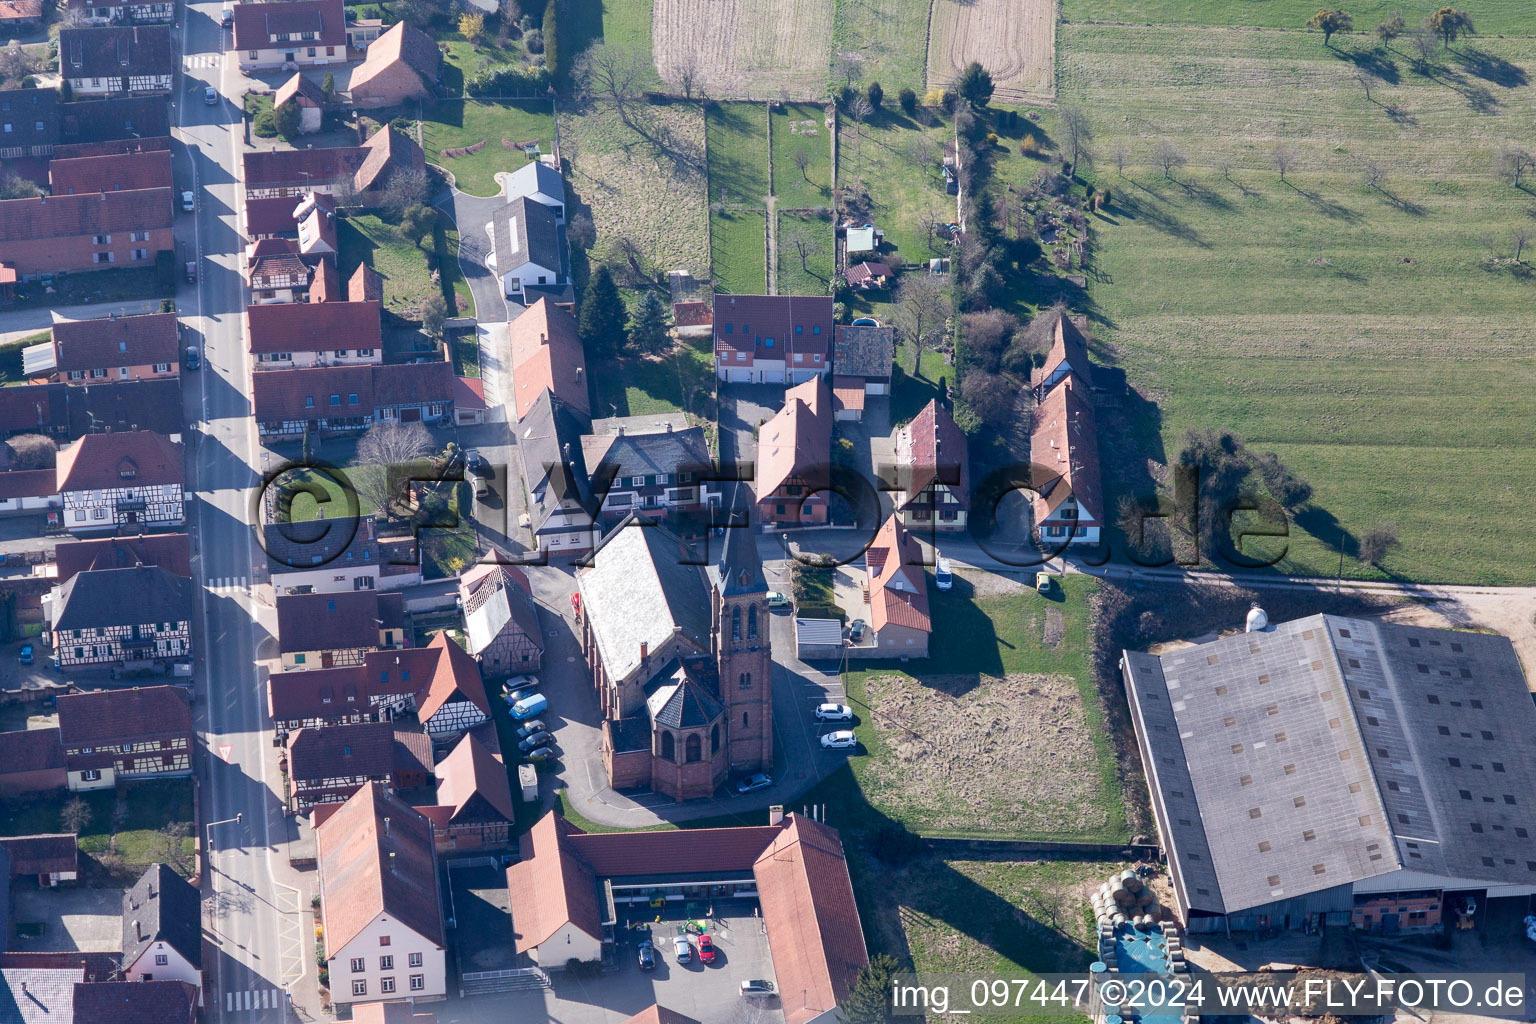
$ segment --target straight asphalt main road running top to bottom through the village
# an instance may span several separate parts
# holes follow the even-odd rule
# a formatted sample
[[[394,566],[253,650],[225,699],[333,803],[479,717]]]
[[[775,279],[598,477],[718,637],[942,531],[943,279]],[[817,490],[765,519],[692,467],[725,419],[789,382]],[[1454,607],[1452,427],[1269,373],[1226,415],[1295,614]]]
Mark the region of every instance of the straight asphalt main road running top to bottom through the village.
[[[184,387],[195,491],[189,520],[203,620],[197,726],[204,749],[198,774],[203,838],[212,837],[204,872],[212,950],[212,963],[204,964],[204,1003],[210,1019],[266,1024],[296,1019],[284,987],[306,973],[312,944],[301,935],[300,895],[273,877],[286,870],[278,852],[286,823],[266,778],[270,734],[261,699],[264,677],[255,666],[266,634],[252,583],[264,556],[249,525],[260,448],[241,329],[241,77],[223,58],[229,38],[221,11],[217,2],[183,8],[177,25],[183,75],[172,114],[178,189],[197,193],[197,210],[178,213],[177,244],[180,264],[197,259],[198,281],[183,281],[177,298],[184,341],[204,353],[203,370],[187,373]],[[203,100],[209,84],[220,89],[217,104]]]

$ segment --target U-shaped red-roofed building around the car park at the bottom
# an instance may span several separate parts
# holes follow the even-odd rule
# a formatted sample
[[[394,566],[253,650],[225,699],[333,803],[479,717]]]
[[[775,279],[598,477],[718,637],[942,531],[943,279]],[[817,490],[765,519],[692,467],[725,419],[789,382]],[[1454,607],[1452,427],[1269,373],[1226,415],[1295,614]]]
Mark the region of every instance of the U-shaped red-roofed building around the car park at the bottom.
[[[588,834],[551,811],[507,869],[515,947],[547,969],[598,960],[608,927],[599,894],[687,900],[702,872],[720,880],[713,892],[757,897],[785,1021],[837,1019],[869,955],[842,840],[796,814],[765,826]]]

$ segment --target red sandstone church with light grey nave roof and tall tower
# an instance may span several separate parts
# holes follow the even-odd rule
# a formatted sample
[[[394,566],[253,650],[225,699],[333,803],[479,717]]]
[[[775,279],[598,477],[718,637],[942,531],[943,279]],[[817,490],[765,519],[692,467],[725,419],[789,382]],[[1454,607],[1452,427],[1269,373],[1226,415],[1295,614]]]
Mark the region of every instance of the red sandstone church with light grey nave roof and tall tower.
[[[711,795],[773,768],[768,583],[750,530],[711,536],[708,565],[630,516],[576,577],[582,652],[614,789]]]

